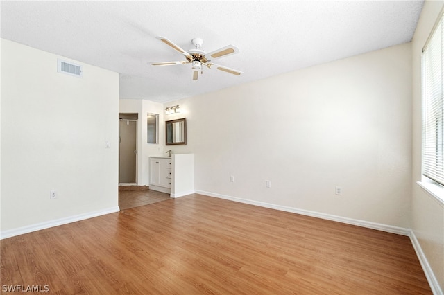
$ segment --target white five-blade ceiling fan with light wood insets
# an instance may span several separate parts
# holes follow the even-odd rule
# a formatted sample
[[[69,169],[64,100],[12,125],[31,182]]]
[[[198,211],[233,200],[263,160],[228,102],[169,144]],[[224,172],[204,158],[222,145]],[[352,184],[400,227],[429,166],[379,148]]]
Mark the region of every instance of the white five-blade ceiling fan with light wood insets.
[[[200,49],[200,47],[203,44],[203,39],[200,38],[194,38],[191,40],[191,43],[196,48],[190,49],[189,51],[183,50],[182,48],[180,48],[179,46],[177,46],[176,44],[174,44],[165,37],[156,37],[156,38],[160,39],[160,41],[164,42],[164,44],[167,44],[175,51],[178,51],[178,53],[184,55],[186,60],[178,62],[152,62],[151,64],[153,66],[175,66],[176,64],[191,64],[191,79],[193,81],[196,81],[198,79],[199,71],[200,74],[203,73],[204,66],[207,66],[208,69],[215,68],[220,71],[224,71],[225,73],[230,73],[233,75],[241,75],[243,73],[235,69],[230,69],[227,66],[221,66],[219,64],[214,64],[212,62],[213,60],[216,60],[218,58],[239,53],[239,49],[234,45],[228,45],[219,48],[216,51],[206,53],[205,51]]]

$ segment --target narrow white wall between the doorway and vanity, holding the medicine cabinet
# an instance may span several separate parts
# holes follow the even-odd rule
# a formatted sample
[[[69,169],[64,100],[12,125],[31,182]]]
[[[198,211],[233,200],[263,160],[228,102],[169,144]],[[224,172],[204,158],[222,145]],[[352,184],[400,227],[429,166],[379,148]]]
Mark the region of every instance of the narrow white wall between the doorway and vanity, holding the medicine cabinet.
[[[138,99],[119,100],[120,113],[137,113],[137,185],[148,186],[149,183],[149,157],[165,157],[164,154],[164,107],[159,102]],[[159,143],[147,143],[146,118],[147,114],[159,114]]]

